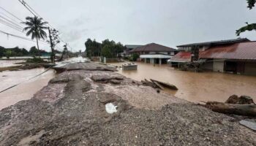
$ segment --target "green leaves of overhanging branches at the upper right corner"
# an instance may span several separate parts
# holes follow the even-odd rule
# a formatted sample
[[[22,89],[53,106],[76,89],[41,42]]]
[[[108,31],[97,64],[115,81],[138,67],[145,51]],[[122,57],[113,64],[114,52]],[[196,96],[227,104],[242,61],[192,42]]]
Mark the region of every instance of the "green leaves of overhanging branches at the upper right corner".
[[[248,4],[248,8],[252,9],[255,7],[256,0],[246,0]],[[246,23],[247,26],[241,27],[238,30],[236,30],[236,35],[239,36],[241,33],[245,31],[256,31],[256,23]]]

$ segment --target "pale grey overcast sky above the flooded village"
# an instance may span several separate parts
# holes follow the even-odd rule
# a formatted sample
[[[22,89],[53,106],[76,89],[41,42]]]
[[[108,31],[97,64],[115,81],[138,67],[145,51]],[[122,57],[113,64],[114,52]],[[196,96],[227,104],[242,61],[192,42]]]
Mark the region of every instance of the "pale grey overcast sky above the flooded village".
[[[85,50],[86,39],[113,39],[124,45],[155,42],[176,48],[192,42],[234,39],[245,22],[256,22],[256,8],[246,0],[25,0],[74,50]],[[0,0],[0,6],[24,20],[31,13],[18,0]],[[0,15],[3,11],[0,9]],[[0,23],[0,30],[24,36]],[[256,33],[241,34],[255,40]],[[26,47],[34,42],[7,38],[4,47]],[[40,49],[50,50],[40,44]],[[59,45],[60,47],[62,45]]]

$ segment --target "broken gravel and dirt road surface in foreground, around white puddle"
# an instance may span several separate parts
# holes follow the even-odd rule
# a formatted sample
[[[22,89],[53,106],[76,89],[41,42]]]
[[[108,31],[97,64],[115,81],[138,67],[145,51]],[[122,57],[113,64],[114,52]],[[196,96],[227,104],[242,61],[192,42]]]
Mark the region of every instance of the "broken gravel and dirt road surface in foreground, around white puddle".
[[[114,114],[105,104],[117,106]],[[256,145],[238,122],[115,72],[63,72],[0,111],[0,145]]]

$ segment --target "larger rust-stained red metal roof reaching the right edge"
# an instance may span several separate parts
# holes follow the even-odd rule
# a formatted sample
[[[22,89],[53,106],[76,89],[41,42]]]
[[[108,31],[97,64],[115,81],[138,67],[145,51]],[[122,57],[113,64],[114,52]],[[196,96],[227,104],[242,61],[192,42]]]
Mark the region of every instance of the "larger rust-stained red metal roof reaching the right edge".
[[[256,42],[210,47],[200,52],[200,58],[256,60]]]

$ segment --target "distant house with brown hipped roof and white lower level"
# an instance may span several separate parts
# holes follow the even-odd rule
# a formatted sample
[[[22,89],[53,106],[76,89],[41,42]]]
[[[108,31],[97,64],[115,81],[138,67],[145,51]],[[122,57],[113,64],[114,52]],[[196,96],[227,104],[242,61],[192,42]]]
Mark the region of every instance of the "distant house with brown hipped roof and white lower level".
[[[130,51],[130,53],[138,53],[140,61],[150,64],[166,64],[167,60],[172,58],[177,52],[178,50],[176,49],[155,43],[136,47]]]

